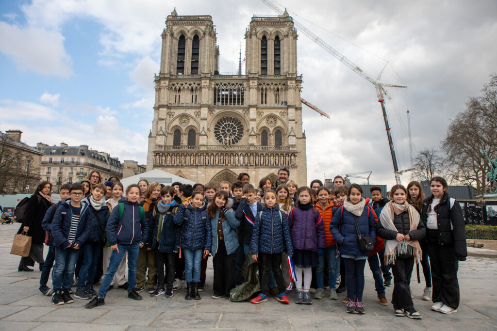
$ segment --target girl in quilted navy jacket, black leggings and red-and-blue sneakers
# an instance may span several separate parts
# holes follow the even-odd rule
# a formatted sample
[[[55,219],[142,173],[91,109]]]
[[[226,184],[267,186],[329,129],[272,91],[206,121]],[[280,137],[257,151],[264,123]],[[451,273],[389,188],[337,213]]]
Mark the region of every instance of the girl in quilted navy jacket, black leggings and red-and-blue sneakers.
[[[252,230],[251,254],[252,259],[259,261],[262,268],[260,287],[262,292],[250,300],[251,303],[267,301],[269,276],[271,269],[278,285],[279,302],[288,304],[285,293],[285,282],[281,273],[281,253],[293,255],[292,238],[286,214],[279,210],[276,193],[267,191],[263,197],[265,206],[255,215]],[[286,262],[285,262],[286,263]]]

